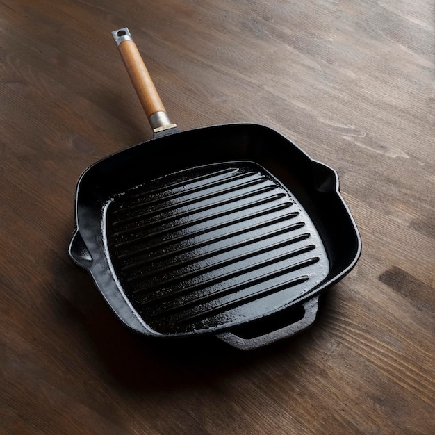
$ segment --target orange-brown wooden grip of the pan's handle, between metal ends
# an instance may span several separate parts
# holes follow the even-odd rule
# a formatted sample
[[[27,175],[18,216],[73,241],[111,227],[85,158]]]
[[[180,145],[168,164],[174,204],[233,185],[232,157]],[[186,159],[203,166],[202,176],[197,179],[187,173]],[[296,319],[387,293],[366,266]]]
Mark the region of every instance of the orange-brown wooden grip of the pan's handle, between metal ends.
[[[125,40],[120,43],[118,49],[148,119],[153,113],[166,112],[136,44],[131,40]]]

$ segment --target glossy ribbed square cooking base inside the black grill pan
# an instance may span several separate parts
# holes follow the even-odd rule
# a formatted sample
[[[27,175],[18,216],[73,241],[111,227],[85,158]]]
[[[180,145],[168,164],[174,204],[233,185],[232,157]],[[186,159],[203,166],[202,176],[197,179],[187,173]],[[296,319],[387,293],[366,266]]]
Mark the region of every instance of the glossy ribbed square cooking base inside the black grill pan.
[[[292,302],[329,270],[306,212],[254,163],[197,167],[113,199],[108,252],[162,334],[226,327]]]

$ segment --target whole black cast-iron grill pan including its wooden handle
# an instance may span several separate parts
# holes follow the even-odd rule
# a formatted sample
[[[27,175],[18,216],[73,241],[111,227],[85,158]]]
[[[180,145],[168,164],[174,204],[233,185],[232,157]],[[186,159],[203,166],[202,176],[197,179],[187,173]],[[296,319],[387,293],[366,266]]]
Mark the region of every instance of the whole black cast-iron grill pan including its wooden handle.
[[[113,38],[154,139],[83,172],[69,255],[147,336],[251,349],[303,331],[361,252],[336,172],[266,126],[180,131],[128,28]]]

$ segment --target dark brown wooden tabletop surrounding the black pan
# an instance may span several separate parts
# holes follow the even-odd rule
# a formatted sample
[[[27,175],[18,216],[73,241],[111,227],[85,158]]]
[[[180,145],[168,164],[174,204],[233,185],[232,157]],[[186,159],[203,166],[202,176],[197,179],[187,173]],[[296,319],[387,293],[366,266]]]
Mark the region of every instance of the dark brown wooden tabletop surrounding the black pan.
[[[2,0],[1,434],[434,434],[430,0]],[[257,122],[334,167],[361,231],[313,327],[147,340],[67,256],[74,189],[151,138],[110,31],[182,129]]]

